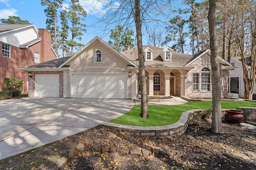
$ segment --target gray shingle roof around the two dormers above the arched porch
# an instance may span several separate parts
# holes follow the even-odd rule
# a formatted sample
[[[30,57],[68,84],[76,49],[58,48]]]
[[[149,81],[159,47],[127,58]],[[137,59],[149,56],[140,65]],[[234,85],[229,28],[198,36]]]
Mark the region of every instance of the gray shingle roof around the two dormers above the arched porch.
[[[176,51],[172,51],[172,61],[163,61],[162,57],[160,56],[163,55],[162,48],[154,47],[154,46],[143,46],[143,50],[146,48],[150,47],[151,49],[154,50],[153,52],[153,61],[147,61],[144,62],[145,68],[177,68],[177,67],[184,67],[190,60],[192,60],[193,56],[192,55],[187,55],[183,53],[178,53]],[[138,49],[133,48],[129,49],[127,51],[122,52],[122,55],[124,55],[126,58],[128,58],[130,61],[135,63],[136,65],[139,65],[138,61]],[[162,54],[161,54],[162,53]]]

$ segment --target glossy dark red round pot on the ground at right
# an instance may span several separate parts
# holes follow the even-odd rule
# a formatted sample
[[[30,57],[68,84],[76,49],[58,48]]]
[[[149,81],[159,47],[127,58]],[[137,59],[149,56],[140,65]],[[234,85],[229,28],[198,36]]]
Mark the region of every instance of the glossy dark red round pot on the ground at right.
[[[242,123],[244,122],[243,111],[226,109],[225,119],[230,123]]]

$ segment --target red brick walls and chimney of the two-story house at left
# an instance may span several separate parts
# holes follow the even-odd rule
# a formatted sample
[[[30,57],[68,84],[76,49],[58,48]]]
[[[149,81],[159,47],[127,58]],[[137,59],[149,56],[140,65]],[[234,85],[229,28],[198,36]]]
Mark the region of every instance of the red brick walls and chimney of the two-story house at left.
[[[1,59],[0,59],[0,91],[2,90],[3,80],[6,77],[14,77],[23,80],[24,86],[21,91],[28,91],[28,73],[26,71],[18,70],[26,66],[34,65],[34,53],[39,53],[40,63],[56,59],[55,54],[51,49],[51,34],[46,29],[38,29],[38,38],[42,38],[40,42],[35,43],[28,48],[20,48],[10,45],[10,58],[2,57],[2,43]]]

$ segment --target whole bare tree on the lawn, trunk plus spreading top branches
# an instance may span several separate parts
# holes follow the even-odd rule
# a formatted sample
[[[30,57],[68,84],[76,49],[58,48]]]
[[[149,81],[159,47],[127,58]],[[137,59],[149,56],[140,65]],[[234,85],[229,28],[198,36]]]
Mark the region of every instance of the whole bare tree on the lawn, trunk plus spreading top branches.
[[[97,15],[99,22],[105,22],[106,26],[102,28],[105,33],[110,30],[111,26],[126,25],[126,27],[136,27],[136,39],[138,46],[138,59],[139,59],[139,76],[141,84],[141,117],[149,117],[148,113],[148,100],[147,100],[147,87],[144,69],[144,55],[142,49],[142,25],[147,25],[154,22],[155,25],[165,23],[162,19],[168,20],[168,14],[164,14],[164,9],[170,8],[168,6],[169,0],[166,1],[152,1],[152,0],[98,0],[104,3],[105,8],[102,9],[103,16]],[[160,17],[161,16],[161,17]],[[157,18],[160,18],[159,20]],[[99,26],[97,25],[97,28]],[[144,29],[146,30],[146,29]],[[145,31],[146,32],[146,31]]]

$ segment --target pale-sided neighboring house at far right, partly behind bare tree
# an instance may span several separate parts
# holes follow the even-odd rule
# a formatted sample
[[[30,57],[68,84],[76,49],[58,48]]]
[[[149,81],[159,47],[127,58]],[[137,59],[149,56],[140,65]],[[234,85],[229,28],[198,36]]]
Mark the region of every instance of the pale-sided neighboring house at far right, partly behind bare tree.
[[[230,70],[229,73],[229,92],[233,94],[238,94],[239,98],[244,98],[244,80],[243,80],[243,66],[241,57],[231,57],[230,63],[238,68]],[[250,69],[250,57],[248,57],[247,67]],[[250,73],[249,73],[250,74]],[[253,94],[256,94],[256,84],[254,85]],[[254,98],[254,96],[253,96]],[[256,100],[254,98],[253,100]]]

